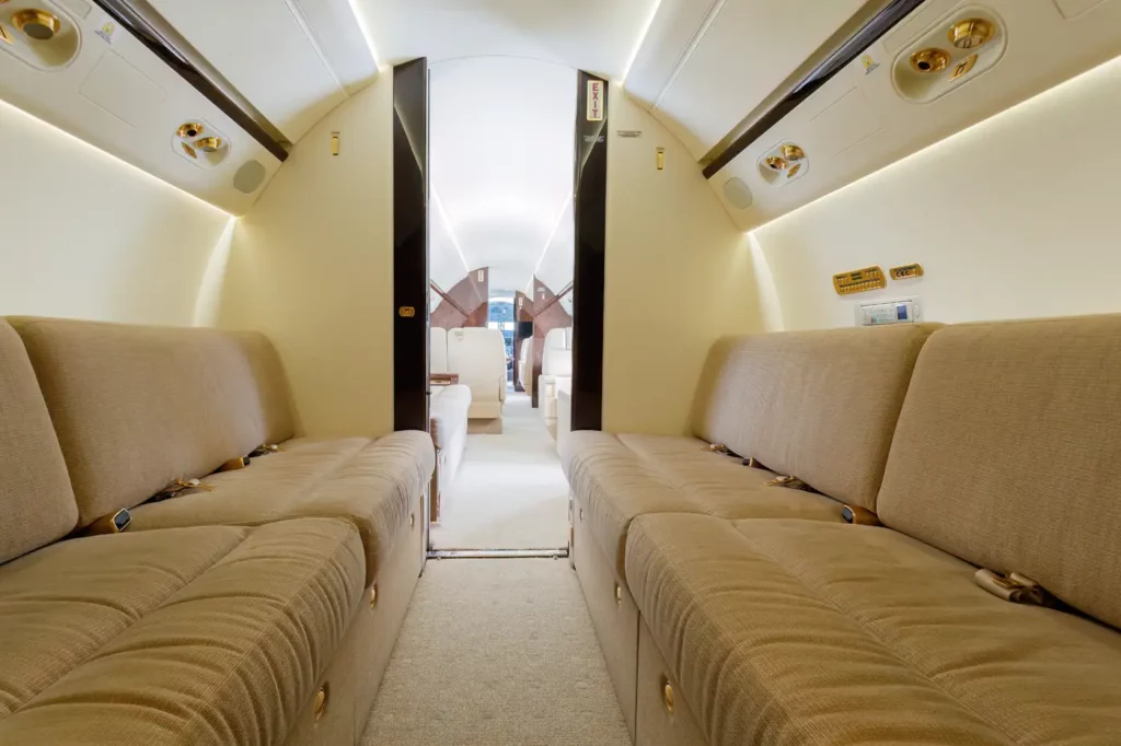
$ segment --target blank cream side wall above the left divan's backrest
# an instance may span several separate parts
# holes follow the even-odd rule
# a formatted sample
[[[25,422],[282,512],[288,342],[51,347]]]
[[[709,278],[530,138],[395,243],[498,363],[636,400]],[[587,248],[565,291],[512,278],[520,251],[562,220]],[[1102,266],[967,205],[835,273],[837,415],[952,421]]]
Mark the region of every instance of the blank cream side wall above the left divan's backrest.
[[[0,315],[189,325],[230,215],[0,102]]]

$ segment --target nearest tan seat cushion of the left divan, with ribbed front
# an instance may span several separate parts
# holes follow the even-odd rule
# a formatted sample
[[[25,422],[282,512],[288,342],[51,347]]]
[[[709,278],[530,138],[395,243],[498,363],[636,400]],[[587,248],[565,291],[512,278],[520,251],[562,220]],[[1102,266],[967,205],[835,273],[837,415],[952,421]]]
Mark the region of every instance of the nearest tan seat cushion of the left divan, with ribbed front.
[[[4,691],[30,693],[33,658],[55,680],[35,679],[41,691],[0,719],[0,743],[282,743],[363,599],[362,576],[358,533],[335,520],[95,537],[4,566],[0,675],[12,652],[24,669]],[[100,622],[78,622],[91,615]],[[44,617],[68,637],[44,645]]]

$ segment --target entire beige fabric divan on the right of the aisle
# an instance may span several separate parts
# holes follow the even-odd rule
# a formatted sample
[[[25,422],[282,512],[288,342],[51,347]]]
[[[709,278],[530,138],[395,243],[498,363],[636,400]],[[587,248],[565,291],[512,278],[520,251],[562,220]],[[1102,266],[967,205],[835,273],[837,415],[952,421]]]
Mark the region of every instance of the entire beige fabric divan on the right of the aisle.
[[[636,743],[1121,743],[1119,371],[1121,316],[739,337],[695,438],[572,433]]]

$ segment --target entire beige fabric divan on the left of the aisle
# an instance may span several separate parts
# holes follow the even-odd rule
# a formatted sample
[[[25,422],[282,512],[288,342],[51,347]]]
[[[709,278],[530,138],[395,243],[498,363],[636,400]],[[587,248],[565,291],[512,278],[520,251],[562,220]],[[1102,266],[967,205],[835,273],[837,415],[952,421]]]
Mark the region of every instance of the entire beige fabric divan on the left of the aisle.
[[[0,743],[355,743],[423,567],[428,436],[293,439],[257,334],[9,321]]]

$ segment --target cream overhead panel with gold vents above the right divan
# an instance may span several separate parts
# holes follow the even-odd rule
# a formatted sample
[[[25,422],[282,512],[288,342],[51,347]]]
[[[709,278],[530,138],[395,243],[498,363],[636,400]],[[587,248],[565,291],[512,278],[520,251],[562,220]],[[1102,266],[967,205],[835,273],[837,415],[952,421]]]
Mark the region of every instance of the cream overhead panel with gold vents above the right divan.
[[[927,0],[710,183],[753,229],[1118,55],[1121,0]],[[788,142],[810,165],[795,180],[765,167]]]

